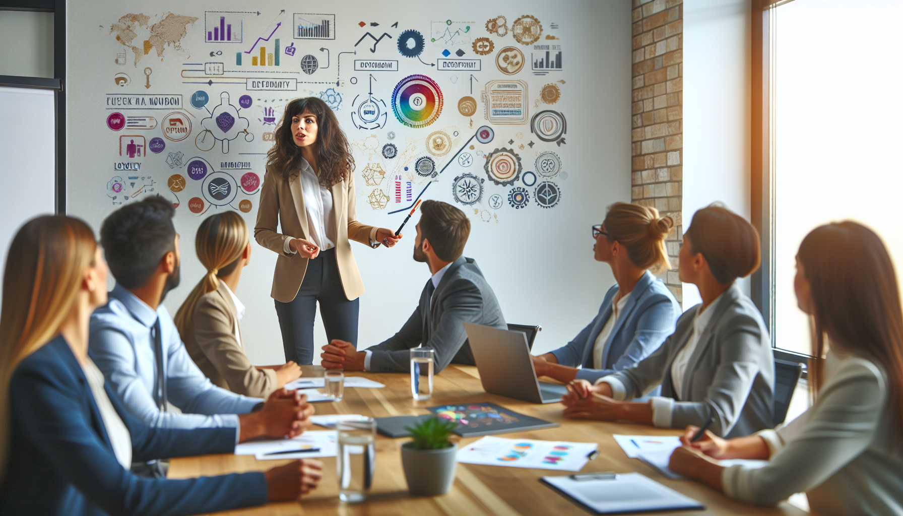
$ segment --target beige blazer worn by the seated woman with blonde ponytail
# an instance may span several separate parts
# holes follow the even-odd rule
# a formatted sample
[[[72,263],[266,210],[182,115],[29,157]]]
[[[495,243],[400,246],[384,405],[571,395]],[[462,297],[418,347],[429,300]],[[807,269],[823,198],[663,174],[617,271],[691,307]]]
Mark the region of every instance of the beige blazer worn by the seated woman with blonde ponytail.
[[[182,334],[191,356],[215,385],[237,394],[266,399],[276,389],[276,371],[259,370],[251,364],[235,338],[237,310],[228,286],[201,296]],[[241,329],[238,329],[241,338]],[[244,341],[242,341],[244,342]]]

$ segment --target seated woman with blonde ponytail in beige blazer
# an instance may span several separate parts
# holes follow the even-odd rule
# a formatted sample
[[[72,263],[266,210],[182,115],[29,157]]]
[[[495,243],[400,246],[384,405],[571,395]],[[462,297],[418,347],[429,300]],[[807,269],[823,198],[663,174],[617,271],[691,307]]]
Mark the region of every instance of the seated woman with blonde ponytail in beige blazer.
[[[214,384],[238,394],[266,399],[301,376],[293,361],[281,366],[254,366],[245,354],[241,326],[245,305],[236,296],[242,269],[251,261],[245,220],[234,211],[205,219],[195,249],[207,274],[175,314],[185,349]]]

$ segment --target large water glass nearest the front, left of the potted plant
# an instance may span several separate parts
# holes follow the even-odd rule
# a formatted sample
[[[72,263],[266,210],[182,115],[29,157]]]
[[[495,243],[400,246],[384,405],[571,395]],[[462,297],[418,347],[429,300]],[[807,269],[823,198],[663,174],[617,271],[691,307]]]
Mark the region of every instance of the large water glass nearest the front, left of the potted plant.
[[[336,429],[339,431],[339,455],[336,457],[339,499],[363,502],[376,473],[377,421],[373,417],[363,421],[342,421]]]

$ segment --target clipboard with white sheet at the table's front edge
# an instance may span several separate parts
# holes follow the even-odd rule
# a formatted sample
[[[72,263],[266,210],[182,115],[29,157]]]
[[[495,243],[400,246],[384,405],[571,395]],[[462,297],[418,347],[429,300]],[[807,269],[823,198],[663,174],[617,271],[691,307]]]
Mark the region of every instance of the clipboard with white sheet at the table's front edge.
[[[544,476],[543,482],[599,514],[637,511],[704,510],[694,499],[677,493],[643,474],[616,474],[609,480],[573,480]]]

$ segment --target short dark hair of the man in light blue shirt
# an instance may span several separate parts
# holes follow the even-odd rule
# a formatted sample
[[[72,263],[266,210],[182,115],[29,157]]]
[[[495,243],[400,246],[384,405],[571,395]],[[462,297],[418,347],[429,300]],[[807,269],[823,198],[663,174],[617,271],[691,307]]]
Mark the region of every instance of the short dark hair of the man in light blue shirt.
[[[127,289],[147,284],[166,253],[175,250],[172,202],[159,195],[123,206],[100,226],[100,245],[116,283]]]

